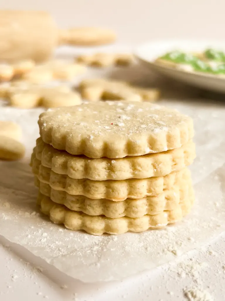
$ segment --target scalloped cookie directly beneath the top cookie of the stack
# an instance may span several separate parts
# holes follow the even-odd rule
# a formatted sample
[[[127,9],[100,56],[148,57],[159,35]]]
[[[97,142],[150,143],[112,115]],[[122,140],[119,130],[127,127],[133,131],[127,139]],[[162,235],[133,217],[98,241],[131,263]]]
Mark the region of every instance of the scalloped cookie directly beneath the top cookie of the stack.
[[[189,141],[180,148],[121,159],[90,159],[58,151],[41,138],[36,141],[35,155],[43,166],[70,178],[88,178],[95,181],[125,180],[128,178],[151,178],[168,175],[193,163],[195,144]]]

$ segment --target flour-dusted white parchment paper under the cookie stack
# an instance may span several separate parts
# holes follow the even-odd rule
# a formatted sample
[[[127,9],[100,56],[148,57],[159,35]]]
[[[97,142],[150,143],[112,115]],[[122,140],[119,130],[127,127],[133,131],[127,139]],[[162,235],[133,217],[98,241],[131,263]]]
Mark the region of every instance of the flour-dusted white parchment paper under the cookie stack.
[[[121,280],[157,267],[225,231],[225,103],[184,98],[160,103],[194,119],[197,158],[190,169],[196,203],[182,222],[118,236],[92,236],[52,224],[36,208],[38,191],[28,165],[43,110],[0,107],[1,120],[22,126],[27,150],[20,162],[0,161],[0,234],[67,275],[94,282]]]

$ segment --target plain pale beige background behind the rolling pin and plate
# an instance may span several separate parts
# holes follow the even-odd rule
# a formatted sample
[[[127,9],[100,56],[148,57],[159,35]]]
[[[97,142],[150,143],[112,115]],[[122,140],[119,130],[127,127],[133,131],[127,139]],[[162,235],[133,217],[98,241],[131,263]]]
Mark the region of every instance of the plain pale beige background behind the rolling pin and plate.
[[[0,7],[47,10],[61,27],[106,26],[119,42],[225,39],[225,0],[0,0]]]

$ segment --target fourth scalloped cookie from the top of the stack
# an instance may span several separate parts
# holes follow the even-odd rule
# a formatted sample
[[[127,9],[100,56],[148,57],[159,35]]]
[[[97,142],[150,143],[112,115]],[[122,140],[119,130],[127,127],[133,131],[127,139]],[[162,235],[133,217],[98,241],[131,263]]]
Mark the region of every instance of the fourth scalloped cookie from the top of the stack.
[[[39,185],[38,185],[39,184]],[[57,204],[66,206],[68,209],[83,212],[87,215],[104,215],[110,218],[128,216],[132,218],[142,217],[146,214],[160,214],[165,210],[174,210],[180,203],[193,194],[191,182],[183,181],[171,189],[164,190],[162,194],[141,199],[126,199],[114,202],[106,199],[92,200],[83,196],[74,196],[65,191],[58,191],[48,184],[36,182],[41,194],[50,197]]]

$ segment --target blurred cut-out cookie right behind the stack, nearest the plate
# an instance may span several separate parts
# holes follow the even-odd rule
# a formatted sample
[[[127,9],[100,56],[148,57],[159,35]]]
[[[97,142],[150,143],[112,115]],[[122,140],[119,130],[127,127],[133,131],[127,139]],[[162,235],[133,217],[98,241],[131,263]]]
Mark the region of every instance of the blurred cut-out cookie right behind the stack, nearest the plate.
[[[127,101],[156,101],[160,93],[154,88],[139,88],[128,82],[109,79],[85,79],[79,84],[82,98],[89,101],[127,100]]]

